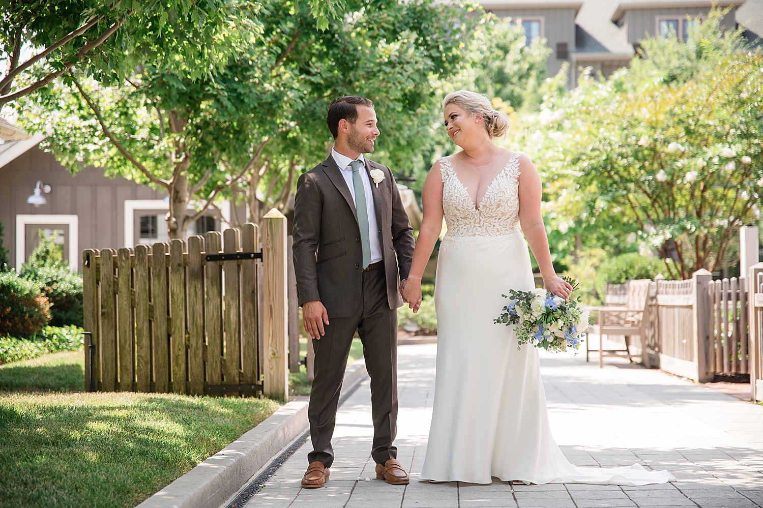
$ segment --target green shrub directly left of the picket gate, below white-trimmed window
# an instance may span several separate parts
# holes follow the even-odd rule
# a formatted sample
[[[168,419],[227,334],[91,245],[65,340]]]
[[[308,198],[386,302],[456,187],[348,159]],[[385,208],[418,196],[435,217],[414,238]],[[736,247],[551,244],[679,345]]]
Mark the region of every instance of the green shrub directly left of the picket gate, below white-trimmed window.
[[[66,265],[27,268],[21,276],[40,285],[50,301],[50,325],[82,326],[82,277]]]

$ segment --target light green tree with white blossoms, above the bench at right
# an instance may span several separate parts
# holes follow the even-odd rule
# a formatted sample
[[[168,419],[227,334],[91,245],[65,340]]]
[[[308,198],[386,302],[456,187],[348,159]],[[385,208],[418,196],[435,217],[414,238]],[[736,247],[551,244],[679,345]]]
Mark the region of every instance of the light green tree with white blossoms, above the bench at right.
[[[731,264],[739,227],[758,217],[763,57],[721,15],[685,44],[647,40],[631,69],[550,95],[524,132],[552,173],[557,224],[610,251],[608,236],[621,249],[639,240],[675,260],[674,278]]]

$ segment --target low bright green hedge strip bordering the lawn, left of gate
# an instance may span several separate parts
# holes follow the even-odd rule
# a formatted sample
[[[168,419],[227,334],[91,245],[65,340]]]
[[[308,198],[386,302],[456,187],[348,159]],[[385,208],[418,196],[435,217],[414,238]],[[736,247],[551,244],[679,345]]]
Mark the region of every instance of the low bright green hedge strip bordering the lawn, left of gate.
[[[79,326],[45,326],[34,340],[0,337],[0,364],[18,362],[50,352],[76,351],[82,348]]]

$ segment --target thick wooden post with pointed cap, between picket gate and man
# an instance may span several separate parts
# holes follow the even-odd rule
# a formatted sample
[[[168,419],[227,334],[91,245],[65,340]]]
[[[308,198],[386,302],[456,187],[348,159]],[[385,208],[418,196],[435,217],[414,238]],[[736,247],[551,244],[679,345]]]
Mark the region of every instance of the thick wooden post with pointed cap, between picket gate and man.
[[[262,230],[262,265],[265,272],[263,391],[268,397],[285,400],[288,398],[286,217],[273,208],[262,217]]]

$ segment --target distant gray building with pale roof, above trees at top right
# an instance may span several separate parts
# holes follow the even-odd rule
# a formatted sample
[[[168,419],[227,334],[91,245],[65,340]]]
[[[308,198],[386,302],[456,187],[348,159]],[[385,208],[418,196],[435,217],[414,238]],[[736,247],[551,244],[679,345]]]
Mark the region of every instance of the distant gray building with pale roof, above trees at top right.
[[[500,18],[521,19],[529,37],[544,37],[551,56],[546,63],[554,76],[570,63],[568,84],[580,69],[591,67],[605,77],[628,65],[639,41],[655,34],[685,38],[694,19],[712,8],[731,7],[723,25],[745,27],[751,41],[763,36],[763,0],[483,0],[486,11]]]

